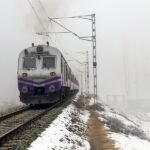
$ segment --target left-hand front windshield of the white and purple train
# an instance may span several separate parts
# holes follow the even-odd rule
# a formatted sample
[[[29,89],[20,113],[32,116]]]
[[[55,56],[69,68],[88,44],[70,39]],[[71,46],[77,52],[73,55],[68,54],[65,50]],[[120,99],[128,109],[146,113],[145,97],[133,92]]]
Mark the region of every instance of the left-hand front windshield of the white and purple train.
[[[24,69],[35,69],[36,68],[36,58],[24,57],[23,68]]]

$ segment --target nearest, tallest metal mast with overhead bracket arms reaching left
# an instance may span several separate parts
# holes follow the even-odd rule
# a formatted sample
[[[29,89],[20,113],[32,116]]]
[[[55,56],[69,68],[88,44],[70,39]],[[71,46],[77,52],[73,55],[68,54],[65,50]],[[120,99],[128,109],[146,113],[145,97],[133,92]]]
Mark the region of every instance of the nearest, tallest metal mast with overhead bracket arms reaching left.
[[[65,27],[64,25],[62,25],[58,21],[56,21],[59,19],[76,19],[76,18],[85,19],[85,20],[89,20],[92,22],[92,35],[90,35],[90,36],[79,36],[75,32],[71,31],[70,29],[68,29],[67,27]],[[94,103],[96,103],[96,98],[97,98],[97,60],[96,60],[96,20],[95,20],[95,14],[72,16],[72,17],[49,18],[49,20],[51,22],[59,25],[60,27],[62,27],[65,30],[65,32],[39,32],[37,34],[48,35],[48,34],[56,34],[56,33],[67,33],[67,34],[70,33],[70,34],[73,34],[74,36],[76,36],[80,40],[92,42],[92,48],[93,48],[93,65],[92,65],[92,67],[93,67],[93,95],[94,95]],[[89,72],[87,73],[87,78],[89,79]],[[89,85],[88,85],[88,90],[89,90]]]

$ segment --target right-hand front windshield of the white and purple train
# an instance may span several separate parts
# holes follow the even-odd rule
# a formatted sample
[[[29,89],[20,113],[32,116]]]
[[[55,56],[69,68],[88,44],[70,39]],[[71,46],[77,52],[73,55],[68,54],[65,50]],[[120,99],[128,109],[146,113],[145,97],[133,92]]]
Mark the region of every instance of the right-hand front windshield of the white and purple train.
[[[55,68],[55,56],[43,57],[43,68]]]

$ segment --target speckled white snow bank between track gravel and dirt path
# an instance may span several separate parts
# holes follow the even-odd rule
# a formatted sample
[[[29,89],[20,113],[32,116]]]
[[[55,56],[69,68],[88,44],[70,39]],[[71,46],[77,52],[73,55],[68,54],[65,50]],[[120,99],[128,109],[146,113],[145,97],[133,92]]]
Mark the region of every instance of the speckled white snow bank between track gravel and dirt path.
[[[75,98],[78,100],[79,95]],[[81,122],[72,123],[72,118],[76,116]],[[90,144],[75,127],[86,129],[86,123],[89,118],[88,111],[80,111],[70,104],[63,112],[49,125],[47,129],[38,137],[28,148],[28,150],[89,150]],[[72,132],[71,130],[74,132]]]

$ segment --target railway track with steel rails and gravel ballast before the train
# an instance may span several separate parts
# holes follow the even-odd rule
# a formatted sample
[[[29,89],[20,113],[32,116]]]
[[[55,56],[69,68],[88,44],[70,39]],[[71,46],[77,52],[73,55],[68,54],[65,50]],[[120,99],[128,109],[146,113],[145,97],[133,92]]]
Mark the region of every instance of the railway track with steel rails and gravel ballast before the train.
[[[59,102],[46,109],[24,108],[0,117],[0,150],[26,149],[68,103]],[[44,116],[47,120],[42,120]]]

